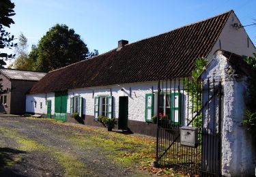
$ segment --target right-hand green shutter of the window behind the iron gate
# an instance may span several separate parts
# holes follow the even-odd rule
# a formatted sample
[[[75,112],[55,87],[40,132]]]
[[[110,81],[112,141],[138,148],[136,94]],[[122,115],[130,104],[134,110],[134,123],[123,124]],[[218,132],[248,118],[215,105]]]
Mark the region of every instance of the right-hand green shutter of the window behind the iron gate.
[[[171,121],[175,125],[181,125],[181,93],[171,93]]]

